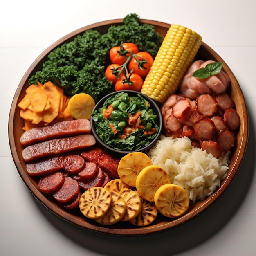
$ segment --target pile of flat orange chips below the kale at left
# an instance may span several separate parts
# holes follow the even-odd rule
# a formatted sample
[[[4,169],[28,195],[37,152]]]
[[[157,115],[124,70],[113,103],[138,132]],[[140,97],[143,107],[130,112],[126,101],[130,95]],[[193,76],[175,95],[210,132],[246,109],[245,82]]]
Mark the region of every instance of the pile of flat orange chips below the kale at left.
[[[24,98],[18,103],[20,117],[25,121],[23,130],[50,123],[72,120],[67,108],[69,97],[63,94],[63,89],[52,82],[30,85]]]

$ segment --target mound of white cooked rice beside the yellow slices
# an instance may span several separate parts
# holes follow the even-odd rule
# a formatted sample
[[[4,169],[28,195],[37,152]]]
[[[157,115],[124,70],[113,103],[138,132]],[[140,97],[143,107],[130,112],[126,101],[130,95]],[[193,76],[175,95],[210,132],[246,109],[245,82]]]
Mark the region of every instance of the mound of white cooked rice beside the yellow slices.
[[[154,165],[168,173],[171,183],[182,186],[195,202],[211,195],[227,175],[229,152],[217,159],[201,148],[191,146],[187,137],[162,135],[148,153]]]

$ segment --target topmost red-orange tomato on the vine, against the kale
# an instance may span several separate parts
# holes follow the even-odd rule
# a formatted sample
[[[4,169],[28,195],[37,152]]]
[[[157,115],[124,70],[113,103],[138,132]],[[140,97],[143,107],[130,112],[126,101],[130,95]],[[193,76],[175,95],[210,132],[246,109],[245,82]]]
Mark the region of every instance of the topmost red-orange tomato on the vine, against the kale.
[[[123,43],[121,46],[114,46],[110,49],[110,61],[123,65],[126,62],[126,57],[129,57],[131,53],[139,52],[139,48],[134,43]],[[119,56],[119,54],[121,56]]]

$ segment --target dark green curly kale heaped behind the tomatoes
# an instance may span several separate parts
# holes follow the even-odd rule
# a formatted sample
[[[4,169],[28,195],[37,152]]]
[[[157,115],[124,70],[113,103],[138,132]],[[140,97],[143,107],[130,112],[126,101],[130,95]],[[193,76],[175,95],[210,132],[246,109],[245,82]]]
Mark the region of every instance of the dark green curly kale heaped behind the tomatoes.
[[[113,85],[104,74],[111,47],[132,42],[155,57],[162,43],[154,26],[139,23],[137,14],[127,15],[123,21],[121,25],[110,26],[106,34],[89,29],[56,47],[48,54],[42,70],[29,78],[29,85],[52,81],[62,87],[67,96],[85,92],[95,102],[112,92]]]

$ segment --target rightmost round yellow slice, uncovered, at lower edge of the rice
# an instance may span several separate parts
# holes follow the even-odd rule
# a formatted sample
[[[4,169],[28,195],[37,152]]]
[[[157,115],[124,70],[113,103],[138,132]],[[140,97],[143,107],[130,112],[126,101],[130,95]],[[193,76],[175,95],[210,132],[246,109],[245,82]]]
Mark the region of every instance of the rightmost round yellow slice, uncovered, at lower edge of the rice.
[[[155,193],[155,205],[160,213],[170,218],[182,216],[189,208],[189,194],[175,184],[161,186]]]

